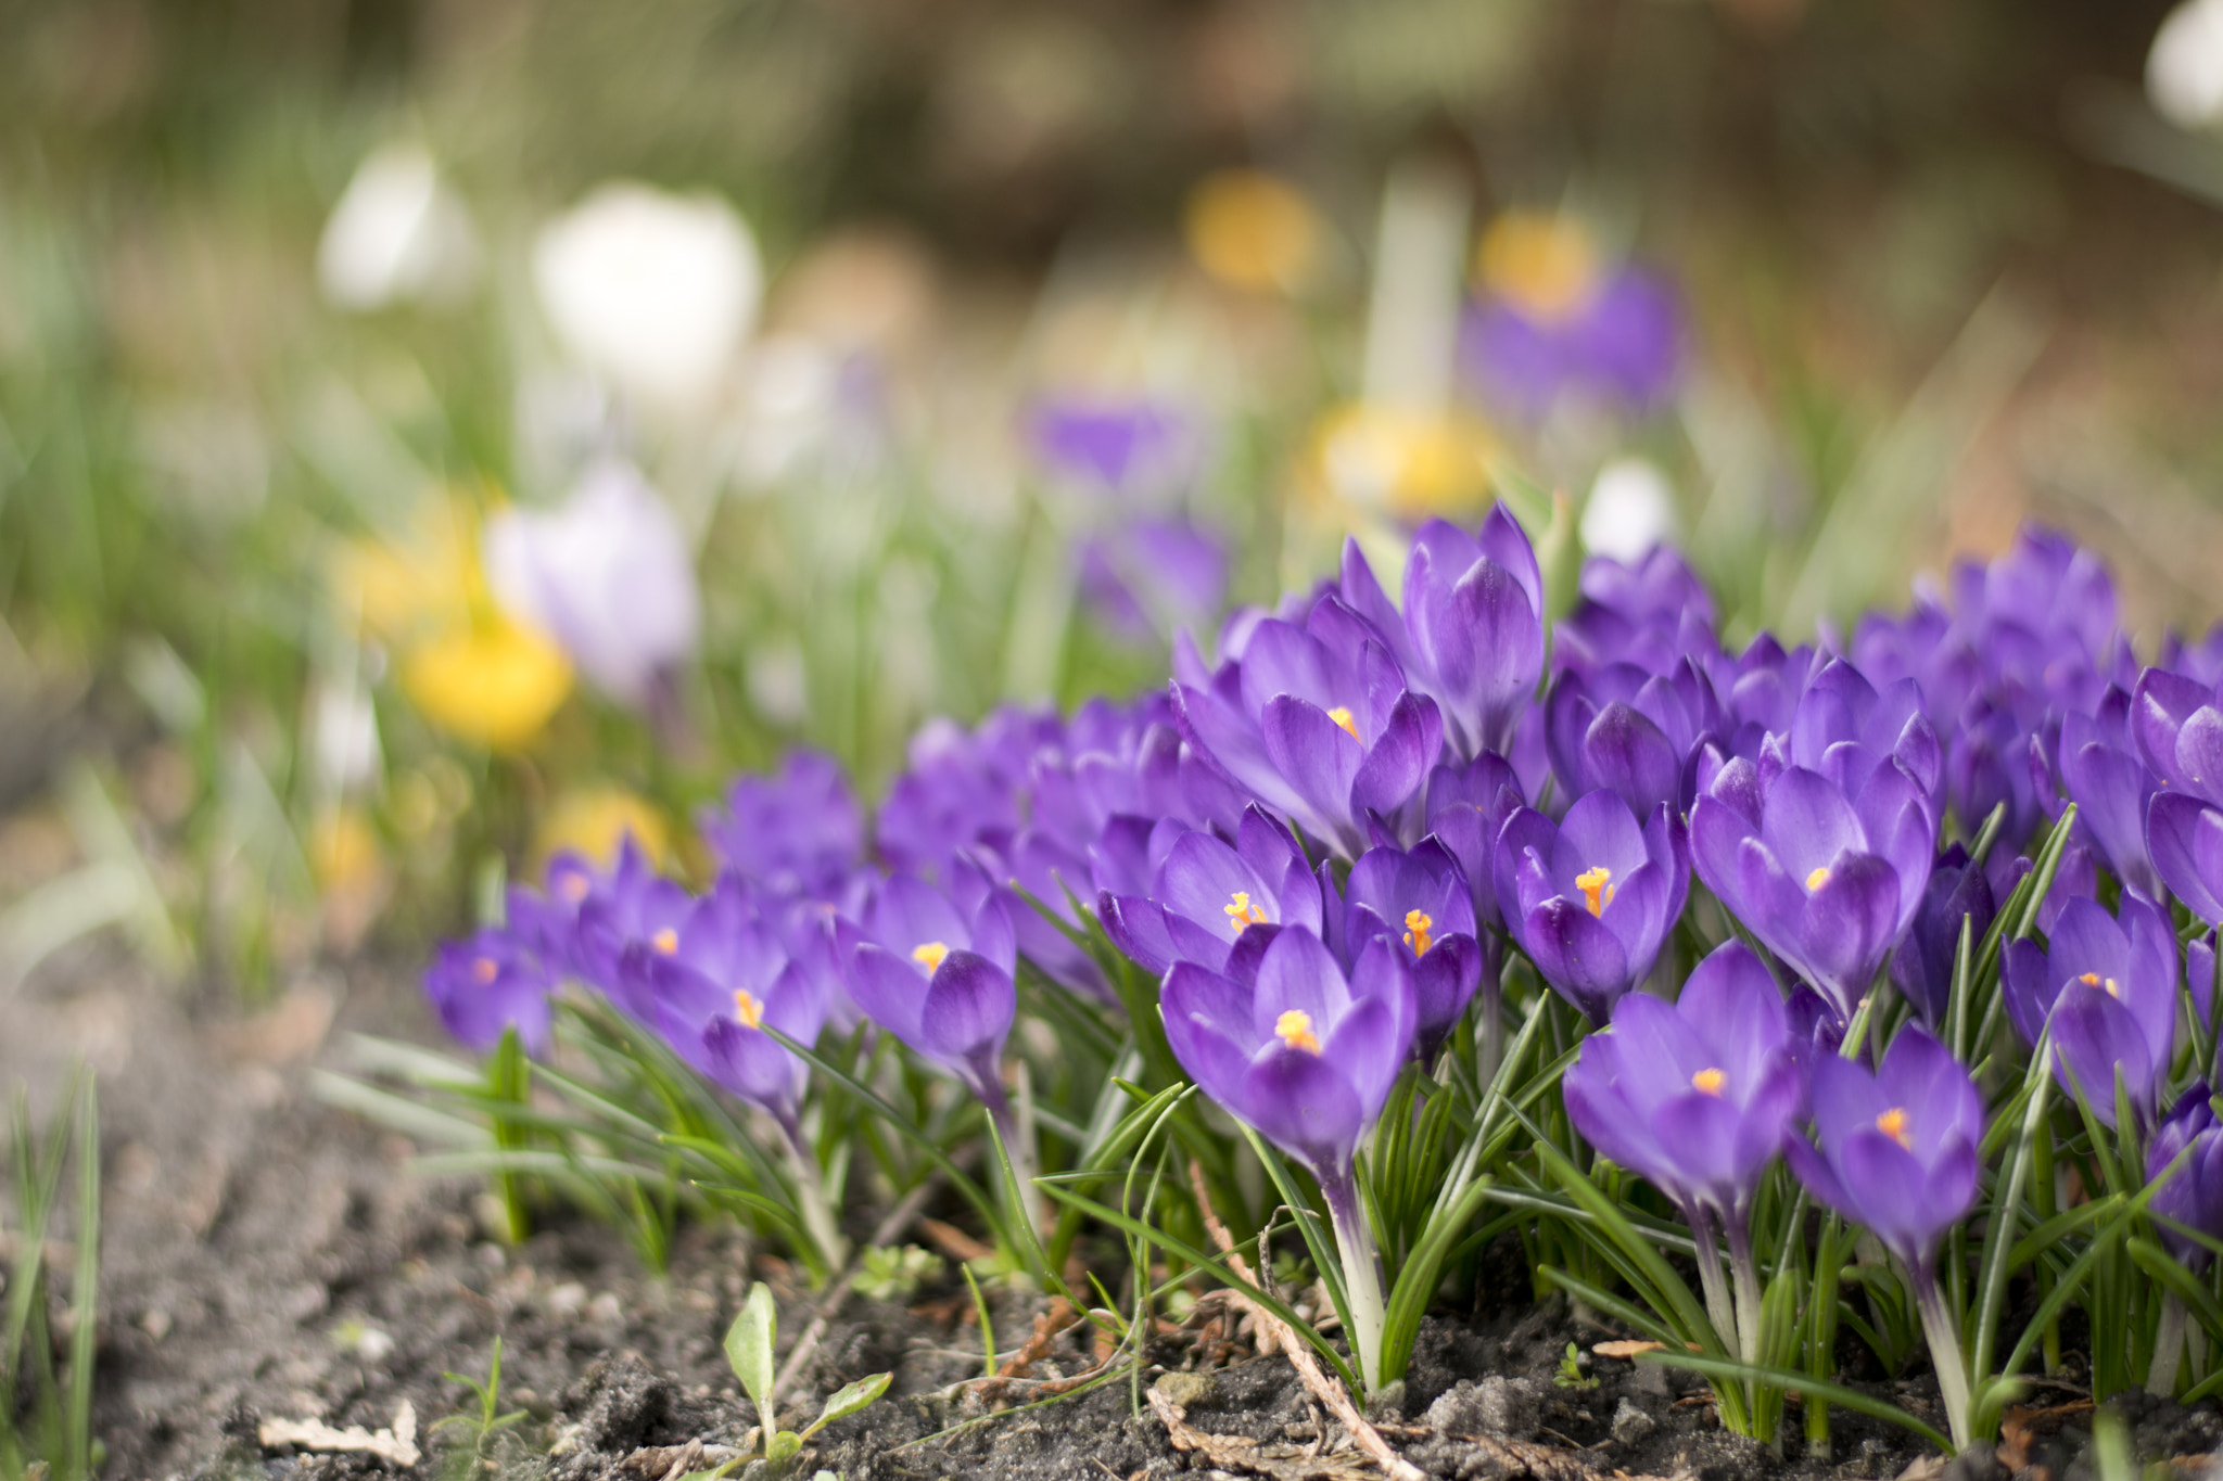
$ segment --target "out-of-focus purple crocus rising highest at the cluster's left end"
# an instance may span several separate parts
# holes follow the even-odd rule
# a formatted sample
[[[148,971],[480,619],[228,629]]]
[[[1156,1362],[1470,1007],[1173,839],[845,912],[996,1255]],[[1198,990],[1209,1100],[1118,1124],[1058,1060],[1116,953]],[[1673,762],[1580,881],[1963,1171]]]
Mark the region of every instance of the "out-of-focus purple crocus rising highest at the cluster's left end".
[[[796,750],[771,777],[734,777],[725,808],[702,808],[720,864],[776,895],[831,899],[865,855],[865,813],[834,757]]]

